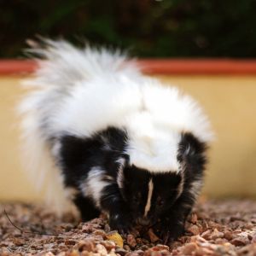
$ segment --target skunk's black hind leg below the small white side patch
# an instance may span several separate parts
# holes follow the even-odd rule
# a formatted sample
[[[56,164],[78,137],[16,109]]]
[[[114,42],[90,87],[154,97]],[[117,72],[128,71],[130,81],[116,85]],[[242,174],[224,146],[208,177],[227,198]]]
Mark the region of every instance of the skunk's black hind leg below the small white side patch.
[[[92,218],[99,217],[100,211],[96,209],[95,204],[90,200],[90,198],[84,197],[82,194],[78,194],[74,198],[73,202],[79,208],[81,218],[84,222]]]

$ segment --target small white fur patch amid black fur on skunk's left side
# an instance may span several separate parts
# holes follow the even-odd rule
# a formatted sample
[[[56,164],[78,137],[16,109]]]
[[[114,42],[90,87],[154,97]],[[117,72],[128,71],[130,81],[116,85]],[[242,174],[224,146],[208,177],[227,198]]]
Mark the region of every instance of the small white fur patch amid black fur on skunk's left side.
[[[102,189],[111,183],[102,180],[105,173],[101,167],[92,167],[85,182],[80,184],[84,196],[95,201],[97,207],[101,207]]]

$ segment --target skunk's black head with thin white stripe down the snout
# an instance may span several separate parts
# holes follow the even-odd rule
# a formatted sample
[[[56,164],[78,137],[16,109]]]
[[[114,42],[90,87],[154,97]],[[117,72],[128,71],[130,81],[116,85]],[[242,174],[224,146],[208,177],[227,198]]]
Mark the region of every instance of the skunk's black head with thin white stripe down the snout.
[[[138,224],[153,224],[172,207],[182,192],[182,176],[176,173],[152,174],[136,166],[124,169],[125,201]]]

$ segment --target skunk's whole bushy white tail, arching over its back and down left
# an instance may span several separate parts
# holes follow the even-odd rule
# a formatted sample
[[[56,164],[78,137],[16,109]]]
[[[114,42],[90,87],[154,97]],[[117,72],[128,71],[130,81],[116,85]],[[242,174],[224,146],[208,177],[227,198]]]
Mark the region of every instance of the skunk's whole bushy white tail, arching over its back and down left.
[[[42,46],[43,45],[43,46]],[[59,213],[70,209],[67,190],[61,171],[55,165],[51,137],[58,136],[49,129],[51,119],[65,102],[70,86],[104,74],[139,74],[136,65],[127,63],[119,51],[74,48],[65,41],[45,39],[42,44],[32,42],[32,55],[40,58],[38,70],[23,85],[29,88],[19,105],[22,116],[22,154],[26,172],[39,191],[43,191],[50,207]]]

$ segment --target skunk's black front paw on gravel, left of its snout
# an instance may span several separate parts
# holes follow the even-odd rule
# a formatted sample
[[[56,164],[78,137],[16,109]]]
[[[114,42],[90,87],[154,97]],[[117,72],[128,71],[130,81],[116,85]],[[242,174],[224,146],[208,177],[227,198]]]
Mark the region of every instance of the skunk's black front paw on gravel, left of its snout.
[[[118,230],[124,235],[132,230],[131,218],[127,214],[115,213],[109,217],[109,225],[111,229]]]

